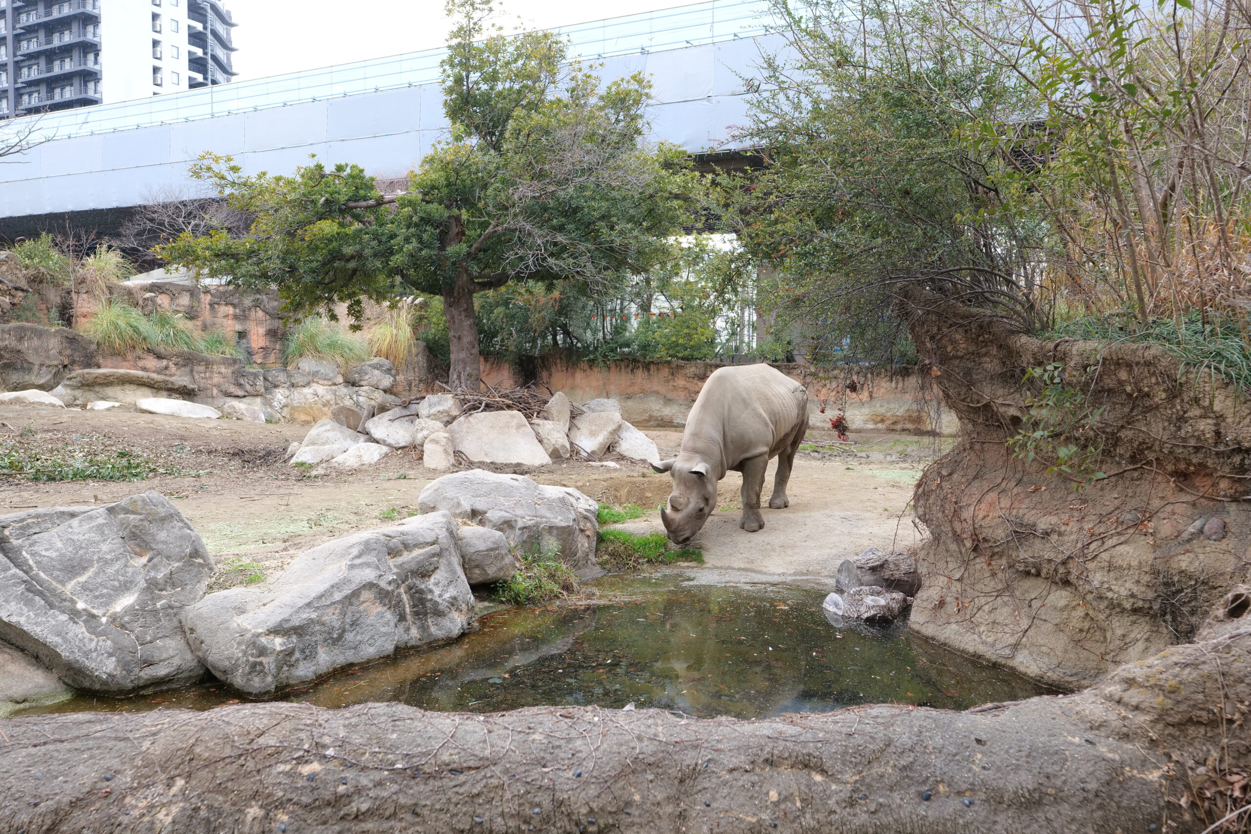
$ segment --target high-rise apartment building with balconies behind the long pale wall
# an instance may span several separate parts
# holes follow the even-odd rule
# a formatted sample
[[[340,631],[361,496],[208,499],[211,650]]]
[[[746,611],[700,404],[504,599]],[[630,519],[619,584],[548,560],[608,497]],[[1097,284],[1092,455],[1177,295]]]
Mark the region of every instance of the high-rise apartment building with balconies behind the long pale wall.
[[[219,0],[0,0],[0,118],[234,78]]]

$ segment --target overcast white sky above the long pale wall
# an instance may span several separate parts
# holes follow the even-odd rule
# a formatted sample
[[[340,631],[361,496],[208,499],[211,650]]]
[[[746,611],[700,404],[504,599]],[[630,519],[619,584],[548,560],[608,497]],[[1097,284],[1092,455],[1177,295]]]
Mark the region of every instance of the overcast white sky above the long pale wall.
[[[503,0],[507,26],[539,29],[671,9],[693,0]],[[236,80],[348,64],[442,46],[443,0],[225,0],[235,23]],[[347,19],[343,18],[347,13]]]

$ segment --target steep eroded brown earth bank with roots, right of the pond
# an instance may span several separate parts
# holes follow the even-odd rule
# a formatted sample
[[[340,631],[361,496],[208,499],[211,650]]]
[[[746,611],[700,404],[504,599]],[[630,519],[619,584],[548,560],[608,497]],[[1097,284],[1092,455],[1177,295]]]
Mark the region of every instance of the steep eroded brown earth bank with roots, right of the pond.
[[[960,416],[958,445],[916,491],[931,539],[912,626],[1045,683],[1088,685],[1191,640],[1211,604],[1251,576],[1251,401],[1158,348],[1040,341],[921,294],[921,355]],[[1107,475],[1047,474],[1008,439],[1031,428],[1026,369],[1061,365],[1076,394],[1050,446],[1100,448]],[[1020,446],[1018,446],[1020,449]]]

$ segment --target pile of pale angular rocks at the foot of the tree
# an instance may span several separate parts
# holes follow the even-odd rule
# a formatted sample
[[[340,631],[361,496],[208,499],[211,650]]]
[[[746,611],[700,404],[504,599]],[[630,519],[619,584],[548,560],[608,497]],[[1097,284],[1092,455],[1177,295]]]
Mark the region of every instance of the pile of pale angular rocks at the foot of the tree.
[[[622,420],[615,400],[587,405],[594,408],[573,418],[569,398],[558,393],[533,420],[522,411],[465,413],[464,403],[453,394],[429,394],[387,410],[377,406],[368,419],[363,413],[342,409],[334,419],[320,420],[309,430],[291,464],[322,466],[319,473],[353,469],[377,463],[390,450],[408,448],[420,449],[425,466],[440,471],[455,469],[458,454],[473,463],[523,466],[608,453],[659,461],[656,444]],[[372,448],[358,450],[358,445]]]

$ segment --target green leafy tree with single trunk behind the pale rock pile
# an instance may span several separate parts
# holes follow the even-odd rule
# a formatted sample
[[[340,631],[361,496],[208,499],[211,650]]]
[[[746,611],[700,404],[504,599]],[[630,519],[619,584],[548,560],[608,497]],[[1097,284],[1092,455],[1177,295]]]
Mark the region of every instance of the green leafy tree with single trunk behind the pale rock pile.
[[[365,298],[439,295],[450,384],[477,389],[477,294],[512,281],[610,285],[646,271],[689,223],[699,181],[679,149],[643,145],[642,75],[600,85],[555,34],[503,35],[492,0],[449,0],[448,13],[452,131],[407,193],[380,194],[357,165],[245,175],[206,154],[191,175],[255,220],[243,236],[184,234],[159,254],[278,286],[296,314],[347,303],[355,318]]]

